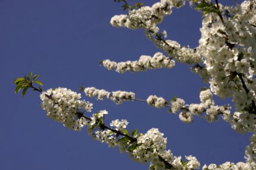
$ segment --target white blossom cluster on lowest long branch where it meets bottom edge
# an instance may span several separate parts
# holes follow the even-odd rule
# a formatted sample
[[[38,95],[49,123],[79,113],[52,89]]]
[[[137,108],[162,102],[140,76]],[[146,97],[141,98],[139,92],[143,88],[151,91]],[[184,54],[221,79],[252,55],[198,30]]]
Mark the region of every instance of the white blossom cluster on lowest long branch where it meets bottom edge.
[[[181,156],[173,156],[171,150],[166,151],[167,139],[163,138],[163,133],[158,129],[152,128],[144,135],[137,138],[137,147],[130,154],[131,159],[136,162],[146,163],[151,160],[150,169],[168,169],[161,159],[169,162],[175,169],[199,169],[200,163],[194,156],[185,156],[188,160],[183,165]],[[159,159],[159,156],[161,159]]]

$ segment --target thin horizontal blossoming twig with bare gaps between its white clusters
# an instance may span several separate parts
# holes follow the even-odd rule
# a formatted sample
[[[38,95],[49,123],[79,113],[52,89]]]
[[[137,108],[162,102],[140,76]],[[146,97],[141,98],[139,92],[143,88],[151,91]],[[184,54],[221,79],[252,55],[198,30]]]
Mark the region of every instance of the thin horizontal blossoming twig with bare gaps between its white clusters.
[[[255,114],[249,114],[248,112],[235,112],[230,113],[231,107],[228,105],[218,106],[214,104],[213,94],[209,89],[203,88],[200,92],[200,104],[185,104],[183,99],[177,98],[176,96],[171,99],[170,104],[163,97],[155,95],[148,96],[147,100],[137,99],[134,92],[126,91],[113,91],[109,92],[106,90],[98,90],[95,87],[84,88],[86,96],[96,97],[98,100],[110,99],[115,104],[122,104],[123,101],[141,101],[147,103],[151,107],[156,108],[168,108],[169,113],[179,113],[179,118],[184,123],[193,122],[193,116],[200,116],[205,118],[208,122],[214,122],[218,120],[218,115],[221,115],[223,120],[229,122],[232,128],[240,133],[254,132],[256,128],[256,116]],[[203,116],[203,113],[204,116]],[[243,119],[248,121],[243,121]]]

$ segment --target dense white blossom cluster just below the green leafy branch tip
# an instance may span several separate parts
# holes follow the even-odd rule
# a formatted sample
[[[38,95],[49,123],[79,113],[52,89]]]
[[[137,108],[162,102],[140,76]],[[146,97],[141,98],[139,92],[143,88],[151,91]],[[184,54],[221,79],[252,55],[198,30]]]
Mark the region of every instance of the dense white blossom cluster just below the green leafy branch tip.
[[[67,88],[50,88],[42,92],[42,109],[47,112],[47,116],[62,123],[65,127],[72,130],[81,130],[86,124],[86,120],[80,117],[81,111],[90,112],[92,103],[79,100],[81,94],[77,94]]]

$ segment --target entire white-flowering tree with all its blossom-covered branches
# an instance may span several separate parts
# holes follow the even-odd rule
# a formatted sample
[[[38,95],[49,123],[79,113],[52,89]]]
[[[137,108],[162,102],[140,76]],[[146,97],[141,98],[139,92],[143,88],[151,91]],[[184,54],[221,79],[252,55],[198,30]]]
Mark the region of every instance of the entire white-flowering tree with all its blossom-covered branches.
[[[204,165],[203,169],[256,169],[256,1],[244,1],[233,7],[222,6],[217,0],[161,0],[151,7],[143,6],[143,3],[131,6],[125,0],[115,2],[122,2],[127,14],[113,16],[110,21],[113,27],[144,29],[146,37],[166,55],[156,52],[152,57],[141,56],[138,61],[118,63],[106,59],[101,61],[101,65],[108,70],[125,73],[162,67],[171,69],[175,62],[185,63],[191,66],[193,73],[199,74],[205,83],[209,83],[210,89],[201,89],[201,103],[197,104],[186,104],[177,96],[168,103],[163,97],[155,95],[142,100],[137,99],[133,92],[109,92],[95,87],[81,87],[85,95],[98,100],[110,99],[116,104],[129,100],[142,101],[151,107],[168,108],[170,113],[179,113],[184,123],[193,122],[194,116],[205,118],[208,122],[217,121],[221,117],[238,133],[252,133],[250,145],[245,151],[246,160]],[[204,16],[199,46],[193,49],[168,40],[167,32],[158,28],[163,18],[171,15],[172,8],[180,8],[185,2]],[[139,133],[137,129],[129,132],[126,129],[127,120],[113,120],[107,125],[104,121],[108,114],[106,110],[87,116],[86,112],[92,111],[92,103],[81,100],[81,94],[61,87],[43,91],[38,76],[30,73],[24,78],[15,79],[15,92],[23,90],[23,96],[28,88],[40,92],[42,109],[48,117],[65,127],[80,131],[86,126],[93,139],[105,142],[110,147],[118,146],[120,152],[129,154],[135,162],[150,162],[150,169],[200,168],[195,156],[189,155],[182,159],[181,156],[173,155],[171,150],[166,150],[167,139],[158,129],[152,128],[145,134]],[[216,105],[213,94],[222,99],[232,96],[236,111],[232,113],[229,105]]]

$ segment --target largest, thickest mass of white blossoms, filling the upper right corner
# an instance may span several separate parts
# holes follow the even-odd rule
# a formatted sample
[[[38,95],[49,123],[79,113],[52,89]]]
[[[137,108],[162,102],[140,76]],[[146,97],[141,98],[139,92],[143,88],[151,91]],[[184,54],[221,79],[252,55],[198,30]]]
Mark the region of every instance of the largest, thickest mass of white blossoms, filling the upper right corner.
[[[255,1],[245,1],[233,8],[220,5],[220,10],[228,12],[223,20],[216,13],[204,16],[198,50],[210,74],[211,90],[222,98],[233,95],[240,111],[251,104],[256,90]]]

